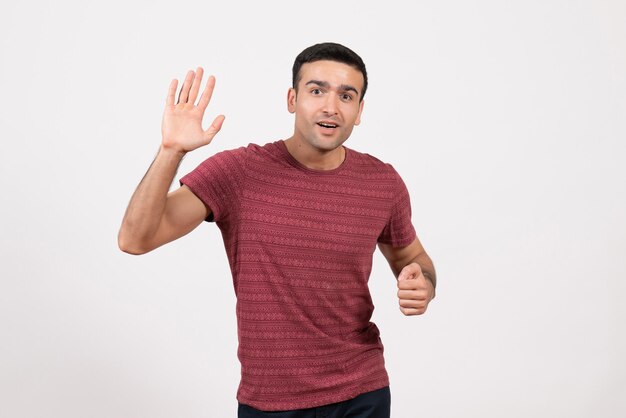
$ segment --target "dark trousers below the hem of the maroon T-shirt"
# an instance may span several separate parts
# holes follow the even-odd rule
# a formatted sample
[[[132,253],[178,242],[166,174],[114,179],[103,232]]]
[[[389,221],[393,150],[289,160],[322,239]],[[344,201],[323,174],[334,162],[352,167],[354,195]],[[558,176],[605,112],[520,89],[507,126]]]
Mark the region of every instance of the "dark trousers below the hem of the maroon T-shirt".
[[[363,393],[354,399],[292,411],[265,412],[239,404],[238,418],[389,418],[391,392],[389,386]]]

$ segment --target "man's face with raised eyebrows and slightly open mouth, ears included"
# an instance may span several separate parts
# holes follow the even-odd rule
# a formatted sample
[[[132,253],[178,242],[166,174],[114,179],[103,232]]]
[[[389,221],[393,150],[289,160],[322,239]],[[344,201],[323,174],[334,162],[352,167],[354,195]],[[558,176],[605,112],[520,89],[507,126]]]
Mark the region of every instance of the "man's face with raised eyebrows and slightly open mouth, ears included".
[[[289,89],[287,107],[295,113],[294,137],[301,145],[332,151],[343,144],[361,122],[363,74],[335,61],[302,65],[298,93]]]

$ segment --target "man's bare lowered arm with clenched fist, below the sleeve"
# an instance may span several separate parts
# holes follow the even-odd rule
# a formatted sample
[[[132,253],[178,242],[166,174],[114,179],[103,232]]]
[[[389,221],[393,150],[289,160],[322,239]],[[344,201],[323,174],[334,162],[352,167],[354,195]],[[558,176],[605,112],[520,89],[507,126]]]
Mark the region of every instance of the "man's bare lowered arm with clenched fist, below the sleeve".
[[[398,280],[398,299],[404,315],[421,315],[435,297],[437,277],[433,262],[419,239],[405,247],[378,244]]]

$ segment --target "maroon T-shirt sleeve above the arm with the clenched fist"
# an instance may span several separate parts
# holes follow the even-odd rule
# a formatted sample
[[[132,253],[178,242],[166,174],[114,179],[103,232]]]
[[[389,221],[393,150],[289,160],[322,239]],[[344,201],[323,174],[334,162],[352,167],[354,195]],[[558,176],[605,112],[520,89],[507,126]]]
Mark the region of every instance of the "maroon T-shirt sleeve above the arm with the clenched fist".
[[[411,223],[411,198],[409,197],[409,191],[397,172],[394,196],[389,219],[378,237],[378,242],[390,244],[393,247],[404,247],[412,243],[417,234]]]

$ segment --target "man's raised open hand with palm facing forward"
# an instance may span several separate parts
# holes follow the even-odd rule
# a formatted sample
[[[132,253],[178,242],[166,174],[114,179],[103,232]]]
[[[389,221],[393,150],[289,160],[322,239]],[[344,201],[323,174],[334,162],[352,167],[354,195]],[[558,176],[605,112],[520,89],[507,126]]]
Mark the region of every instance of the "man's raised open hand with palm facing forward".
[[[163,112],[161,134],[162,146],[180,153],[187,153],[209,144],[222,128],[224,115],[215,118],[208,129],[202,129],[202,118],[215,88],[215,77],[207,80],[202,96],[196,105],[196,99],[202,82],[204,70],[198,67],[196,72],[189,71],[176,99],[178,80],[170,83]]]

